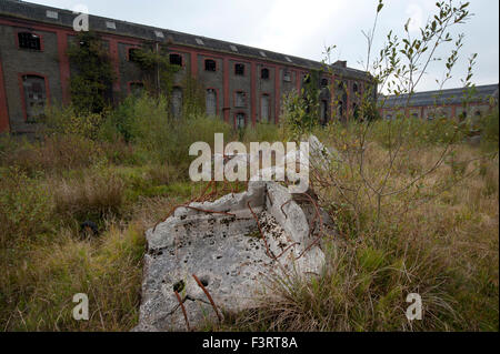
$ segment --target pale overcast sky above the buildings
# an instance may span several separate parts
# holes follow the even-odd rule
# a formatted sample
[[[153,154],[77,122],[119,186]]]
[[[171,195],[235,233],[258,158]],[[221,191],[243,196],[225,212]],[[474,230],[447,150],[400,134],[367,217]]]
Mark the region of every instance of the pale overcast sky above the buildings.
[[[361,30],[372,27],[378,0],[31,0],[30,2],[74,9],[84,4],[91,14],[156,26],[191,34],[232,41],[320,61],[324,45],[336,44],[332,60],[347,60],[363,69],[367,43]],[[389,30],[401,33],[412,19],[417,31],[434,13],[436,0],[384,0],[374,47],[382,45]],[[453,79],[444,88],[460,87],[467,57],[478,53],[473,82],[499,82],[499,1],[472,0],[474,14],[454,33],[466,33],[462,55]],[[378,52],[378,51],[377,51]],[[442,57],[447,52],[440,53]],[[417,88],[437,89],[443,63],[434,64]]]

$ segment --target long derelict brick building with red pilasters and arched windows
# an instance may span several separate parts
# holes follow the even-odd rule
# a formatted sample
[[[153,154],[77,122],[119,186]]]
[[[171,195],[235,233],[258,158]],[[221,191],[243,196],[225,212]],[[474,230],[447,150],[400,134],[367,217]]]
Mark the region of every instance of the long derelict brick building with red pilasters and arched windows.
[[[78,34],[77,17],[68,10],[0,0],[0,132],[32,132],[47,103],[71,101],[74,68],[67,50]],[[143,88],[144,73],[133,62],[133,50],[143,44],[160,48],[170,63],[180,67],[173,78],[173,112],[182,105],[182,79],[191,75],[206,90],[207,112],[234,128],[277,123],[282,97],[300,92],[311,70],[320,70],[319,89],[331,88],[321,90],[321,123],[354,112],[359,95],[372,82],[346,61],[332,64],[329,74],[317,61],[201,36],[97,16],[90,16],[89,23],[109,48],[116,103]]]

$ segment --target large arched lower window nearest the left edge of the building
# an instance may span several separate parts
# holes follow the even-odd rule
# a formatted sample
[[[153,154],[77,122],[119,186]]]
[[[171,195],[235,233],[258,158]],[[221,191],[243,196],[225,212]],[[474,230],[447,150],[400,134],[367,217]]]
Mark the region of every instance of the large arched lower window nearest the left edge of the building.
[[[47,92],[46,78],[39,75],[22,75],[24,91],[24,108],[27,122],[33,123],[43,115]]]

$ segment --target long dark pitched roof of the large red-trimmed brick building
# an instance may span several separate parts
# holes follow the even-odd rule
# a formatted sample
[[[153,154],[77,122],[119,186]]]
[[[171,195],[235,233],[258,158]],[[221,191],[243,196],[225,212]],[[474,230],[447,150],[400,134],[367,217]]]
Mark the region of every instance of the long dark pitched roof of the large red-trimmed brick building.
[[[51,11],[52,16],[48,16],[48,11]],[[57,12],[57,18],[53,16]],[[70,10],[63,10],[41,4],[36,4],[19,0],[2,0],[0,1],[0,14],[10,16],[16,18],[22,18],[28,20],[34,20],[39,22],[59,24],[63,27],[73,26],[76,13]],[[114,27],[107,26],[107,22],[113,22]],[[89,27],[97,32],[107,32],[121,34],[126,37],[139,38],[148,41],[159,42],[172,42],[181,45],[197,47],[202,49],[216,50],[221,52],[230,52],[231,54],[240,54],[248,57],[257,57],[261,60],[271,60],[284,63],[287,65],[302,67],[304,69],[322,69],[324,65],[321,62],[287,55],[264,49],[253,48],[249,45],[232,43],[228,41],[217,40],[202,36],[188,34],[183,32],[172,31],[168,29],[161,29],[157,27],[138,24],[127,21],[119,21],[109,18],[89,16]],[[163,36],[158,37],[157,32],[161,32]],[[201,40],[201,41],[200,41]],[[236,48],[236,51],[234,51]],[[263,57],[262,53],[266,55]],[[332,65],[336,73],[344,77],[366,79],[367,72],[351,69],[340,68]]]

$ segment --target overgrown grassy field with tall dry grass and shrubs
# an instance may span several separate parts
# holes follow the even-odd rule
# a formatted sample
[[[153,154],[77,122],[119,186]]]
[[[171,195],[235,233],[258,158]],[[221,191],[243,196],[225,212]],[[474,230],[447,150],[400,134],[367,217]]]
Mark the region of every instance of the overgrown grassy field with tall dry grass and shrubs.
[[[128,101],[106,117],[54,111],[41,142],[1,138],[0,331],[129,331],[137,324],[144,230],[204,186],[188,180],[189,144],[211,142],[214,132],[224,132],[227,142],[238,138],[207,118],[169,123],[164,102],[148,100]],[[277,299],[228,314],[211,330],[498,331],[498,113],[483,124],[480,145],[453,141],[439,168],[379,205],[362,178],[384,179],[388,124],[373,123],[367,135],[366,175],[351,155],[356,123],[317,129],[349,162],[319,180],[341,181],[351,193],[314,184],[339,227],[339,235],[324,235],[323,273],[308,282],[277,280]],[[406,138],[388,188],[432,169],[452,125],[400,127]],[[286,136],[284,128],[264,124],[239,134],[243,141]],[[84,220],[97,222],[99,237],[82,237]],[[424,309],[423,320],[412,323],[404,316],[411,292],[421,294]],[[76,293],[89,295],[89,321],[71,316]]]

